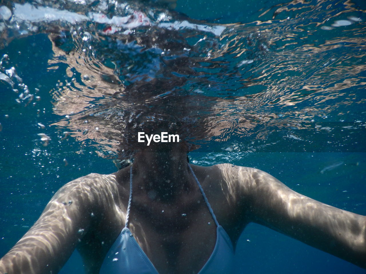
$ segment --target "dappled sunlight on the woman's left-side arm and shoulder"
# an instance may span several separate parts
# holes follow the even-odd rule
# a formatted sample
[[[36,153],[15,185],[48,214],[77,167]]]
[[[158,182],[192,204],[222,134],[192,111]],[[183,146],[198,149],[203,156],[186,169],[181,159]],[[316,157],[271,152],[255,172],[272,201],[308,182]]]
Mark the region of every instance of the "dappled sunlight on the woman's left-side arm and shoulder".
[[[1,259],[0,271],[56,273],[59,269],[49,267],[52,258],[60,256],[66,262],[89,227],[91,213],[101,218],[103,209],[109,208],[109,214],[120,218],[117,225],[124,222],[126,209],[117,192],[111,175],[90,174],[63,186],[33,227]]]

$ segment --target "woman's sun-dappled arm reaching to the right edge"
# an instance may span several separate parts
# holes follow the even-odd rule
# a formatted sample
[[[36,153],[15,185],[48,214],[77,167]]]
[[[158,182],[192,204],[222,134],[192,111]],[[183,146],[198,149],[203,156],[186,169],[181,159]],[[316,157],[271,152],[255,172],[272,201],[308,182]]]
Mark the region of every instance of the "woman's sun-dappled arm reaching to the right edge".
[[[239,178],[249,221],[366,268],[366,216],[296,193],[254,168],[240,169]]]

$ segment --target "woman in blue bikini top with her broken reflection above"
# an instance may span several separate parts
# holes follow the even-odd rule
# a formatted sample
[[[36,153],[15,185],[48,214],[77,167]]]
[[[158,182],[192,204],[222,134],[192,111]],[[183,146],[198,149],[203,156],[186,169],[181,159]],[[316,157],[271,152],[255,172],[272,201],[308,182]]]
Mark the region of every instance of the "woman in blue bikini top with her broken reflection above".
[[[17,8],[11,11],[21,20],[21,8]],[[99,24],[107,24],[97,28],[98,34],[82,30],[81,36],[74,35],[74,29],[68,29],[67,24],[59,26],[58,21],[48,25],[46,32],[55,55],[63,56],[63,62],[76,68],[92,87],[86,89],[76,81],[70,89],[58,91],[53,111],[67,117],[57,126],[67,126],[78,140],[86,136],[112,140],[118,144],[120,159],[134,161],[113,174],[90,174],[57,191],[33,227],[1,258],[0,273],[57,273],[77,248],[86,273],[229,274],[233,273],[235,243],[249,222],[366,268],[365,216],[296,193],[254,168],[231,164],[201,167],[187,162],[195,140],[219,136],[226,127],[218,126],[212,110],[247,98],[207,100],[184,93],[179,87],[186,80],[177,73],[199,78],[197,63],[203,60],[187,58],[187,51],[199,52],[201,48],[189,49],[188,42],[173,31],[184,21],[169,23],[169,27],[159,23],[150,33],[120,34],[117,28],[123,24],[131,28],[150,24],[146,16],[133,15],[120,19],[126,19],[122,23],[116,23],[115,18],[111,26],[107,19],[89,15]],[[193,26],[199,29],[202,25],[195,22]],[[224,30],[212,25],[202,31],[209,37]],[[70,40],[76,41],[73,49]],[[215,47],[214,40],[203,40],[213,41],[210,46]],[[146,47],[143,52],[150,59],[145,61],[150,63],[121,64],[121,56],[109,60],[107,53],[91,50],[96,41],[108,42],[111,51],[118,49],[128,56]],[[261,46],[266,51],[265,45]],[[93,54],[99,54],[98,58]],[[169,58],[160,59],[164,55]],[[97,66],[91,66],[93,62]],[[220,62],[210,65],[216,69]],[[114,69],[106,65],[110,63]],[[117,72],[126,78],[121,80]],[[210,77],[199,81],[213,83]],[[87,96],[81,97],[80,91]],[[96,106],[90,107],[91,102]],[[240,123],[253,127],[258,117],[252,116]],[[147,145],[138,141],[138,132],[149,136],[167,132],[180,138],[179,142]]]

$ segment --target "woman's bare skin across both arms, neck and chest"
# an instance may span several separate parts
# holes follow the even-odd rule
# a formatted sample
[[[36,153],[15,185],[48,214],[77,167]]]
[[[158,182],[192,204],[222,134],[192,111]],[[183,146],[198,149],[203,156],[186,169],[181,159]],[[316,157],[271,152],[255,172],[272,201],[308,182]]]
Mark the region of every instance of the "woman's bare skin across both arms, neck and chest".
[[[198,273],[216,244],[216,225],[184,143],[145,147],[132,166],[129,228],[160,274]],[[266,172],[231,164],[192,165],[234,246],[249,222],[366,268],[366,217],[315,201]],[[97,274],[124,227],[130,167],[63,186],[38,221],[0,260],[0,273],[57,273],[77,248]],[[182,214],[186,214],[182,217]]]

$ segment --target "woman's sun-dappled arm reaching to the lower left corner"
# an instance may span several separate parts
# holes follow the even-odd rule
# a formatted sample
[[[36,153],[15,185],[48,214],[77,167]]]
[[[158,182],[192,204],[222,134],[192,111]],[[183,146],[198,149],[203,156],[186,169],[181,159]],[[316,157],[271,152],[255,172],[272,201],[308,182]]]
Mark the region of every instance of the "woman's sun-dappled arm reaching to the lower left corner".
[[[79,178],[57,191],[33,227],[0,259],[0,273],[50,274],[61,269],[90,225],[93,198],[88,181]]]

